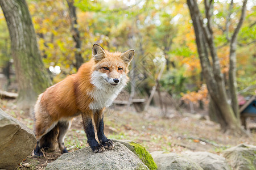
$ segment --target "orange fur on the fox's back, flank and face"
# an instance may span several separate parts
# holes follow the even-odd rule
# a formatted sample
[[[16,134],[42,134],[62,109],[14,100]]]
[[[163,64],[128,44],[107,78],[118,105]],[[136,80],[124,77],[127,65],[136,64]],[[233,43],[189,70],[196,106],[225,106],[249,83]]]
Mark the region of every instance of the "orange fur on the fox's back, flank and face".
[[[94,112],[90,108],[94,106],[93,103],[96,103],[97,106],[93,94],[100,93],[94,86],[95,84],[92,83],[94,71],[99,74],[104,73],[108,75],[108,78],[125,76],[124,79],[127,82],[128,66],[133,56],[127,54],[127,52],[110,53],[106,50],[102,55],[104,57],[93,57],[89,62],[84,63],[76,74],[67,76],[67,78],[47,88],[43,94],[39,95],[35,105],[35,134],[37,139],[42,138],[60,120],[69,121],[81,113],[86,115]],[[102,58],[98,59],[96,57]],[[105,70],[104,67],[108,67],[109,70]],[[118,68],[122,68],[122,70]]]

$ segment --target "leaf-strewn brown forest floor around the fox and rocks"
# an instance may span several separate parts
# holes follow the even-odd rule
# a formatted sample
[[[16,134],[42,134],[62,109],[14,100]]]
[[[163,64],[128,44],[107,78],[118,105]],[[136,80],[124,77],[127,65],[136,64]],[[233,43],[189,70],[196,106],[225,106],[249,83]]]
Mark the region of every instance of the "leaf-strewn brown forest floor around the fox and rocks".
[[[32,116],[26,111],[19,110],[15,100],[0,100],[0,106],[7,114],[33,129]],[[161,117],[160,110],[154,107],[141,113],[133,109],[127,111],[123,107],[113,107],[106,109],[105,112],[105,134],[110,139],[128,139],[138,142],[149,152],[160,150],[179,153],[191,150],[220,154],[222,150],[240,143],[256,145],[255,130],[251,131],[250,137],[223,134],[220,126],[209,121],[204,114],[204,112],[191,114],[184,111],[181,115],[170,109],[167,117]],[[255,128],[256,124],[250,121],[249,126]],[[65,138],[65,146],[70,152],[88,146],[81,117],[74,118]],[[44,152],[41,158],[31,154],[20,163],[18,169],[44,169],[48,163],[60,155],[59,150]]]

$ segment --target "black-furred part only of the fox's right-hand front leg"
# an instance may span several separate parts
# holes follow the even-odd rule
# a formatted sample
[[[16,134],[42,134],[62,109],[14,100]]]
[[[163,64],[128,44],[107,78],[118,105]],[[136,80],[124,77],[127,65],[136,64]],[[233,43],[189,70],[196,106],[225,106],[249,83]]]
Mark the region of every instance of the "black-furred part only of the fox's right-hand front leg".
[[[103,116],[103,114],[100,118],[98,118],[98,120],[97,120],[97,122],[95,122],[95,124],[97,126],[98,140],[101,142],[101,145],[103,145],[105,148],[113,150],[113,148],[114,148],[113,141],[106,138],[106,136],[104,134],[104,116]]]

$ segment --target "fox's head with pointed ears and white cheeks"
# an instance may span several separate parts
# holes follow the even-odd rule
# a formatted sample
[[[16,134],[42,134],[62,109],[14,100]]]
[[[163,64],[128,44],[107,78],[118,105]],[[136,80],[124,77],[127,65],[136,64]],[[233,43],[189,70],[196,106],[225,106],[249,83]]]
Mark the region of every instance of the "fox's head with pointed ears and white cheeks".
[[[95,62],[91,82],[98,88],[105,86],[123,87],[129,78],[128,66],[134,57],[134,50],[110,53],[100,45],[93,44],[93,59]]]

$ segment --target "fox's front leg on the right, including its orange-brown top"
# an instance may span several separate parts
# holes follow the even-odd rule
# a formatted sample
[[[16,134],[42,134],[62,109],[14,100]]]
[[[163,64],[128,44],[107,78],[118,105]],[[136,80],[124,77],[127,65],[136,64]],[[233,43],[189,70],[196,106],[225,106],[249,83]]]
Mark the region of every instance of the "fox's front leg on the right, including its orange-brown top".
[[[113,141],[106,138],[104,134],[104,114],[102,110],[99,110],[96,113],[94,113],[94,122],[97,129],[98,140],[101,142],[101,145],[103,145],[105,148],[108,148],[109,150],[113,150]]]

